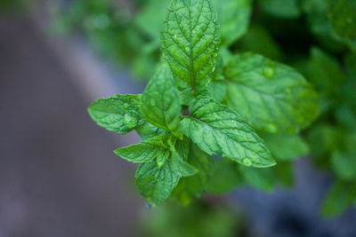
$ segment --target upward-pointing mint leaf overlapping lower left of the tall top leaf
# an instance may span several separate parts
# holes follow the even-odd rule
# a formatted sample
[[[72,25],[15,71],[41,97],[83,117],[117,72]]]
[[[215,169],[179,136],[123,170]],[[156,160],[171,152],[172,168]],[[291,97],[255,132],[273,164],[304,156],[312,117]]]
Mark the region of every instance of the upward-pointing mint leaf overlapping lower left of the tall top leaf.
[[[181,110],[179,91],[172,73],[166,64],[162,64],[143,91],[141,113],[158,128],[170,130],[174,136],[182,138],[179,130]]]

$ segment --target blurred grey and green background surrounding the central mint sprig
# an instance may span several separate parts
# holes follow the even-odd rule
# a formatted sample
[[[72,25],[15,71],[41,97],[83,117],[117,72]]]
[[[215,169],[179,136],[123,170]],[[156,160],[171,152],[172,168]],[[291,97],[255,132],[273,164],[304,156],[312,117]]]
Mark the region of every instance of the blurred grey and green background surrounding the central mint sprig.
[[[169,1],[0,0],[0,237],[356,236],[354,36],[329,34],[324,0],[241,2],[251,22],[231,51],[296,67],[320,92],[309,152],[273,191],[240,186],[150,209],[135,166],[112,152],[139,137],[101,129],[86,108],[143,91]],[[336,151],[351,158],[340,166]]]

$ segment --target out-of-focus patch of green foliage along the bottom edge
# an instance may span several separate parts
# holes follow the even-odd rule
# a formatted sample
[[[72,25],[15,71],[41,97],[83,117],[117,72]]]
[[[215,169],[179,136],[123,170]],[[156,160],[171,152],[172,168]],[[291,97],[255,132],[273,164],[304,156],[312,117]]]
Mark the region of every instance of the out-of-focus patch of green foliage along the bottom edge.
[[[247,236],[237,209],[211,202],[194,202],[190,208],[166,203],[154,211],[146,210],[140,236]]]

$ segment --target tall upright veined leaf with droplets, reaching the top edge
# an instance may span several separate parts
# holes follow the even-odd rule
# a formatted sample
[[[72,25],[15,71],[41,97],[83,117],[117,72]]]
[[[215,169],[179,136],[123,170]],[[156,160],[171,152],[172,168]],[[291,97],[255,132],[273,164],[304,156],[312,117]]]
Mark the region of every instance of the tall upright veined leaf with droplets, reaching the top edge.
[[[219,42],[219,25],[210,0],[172,1],[161,47],[179,87],[199,89],[210,82]]]

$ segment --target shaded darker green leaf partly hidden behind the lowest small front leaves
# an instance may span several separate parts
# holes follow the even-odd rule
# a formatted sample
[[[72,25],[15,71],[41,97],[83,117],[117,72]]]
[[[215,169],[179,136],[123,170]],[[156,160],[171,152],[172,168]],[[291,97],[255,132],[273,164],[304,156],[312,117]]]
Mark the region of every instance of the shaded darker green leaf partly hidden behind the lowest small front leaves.
[[[199,198],[206,191],[207,182],[213,168],[214,159],[190,141],[190,155],[188,161],[198,169],[194,176],[183,177],[174,188],[172,195],[182,204],[187,205],[193,198]]]

